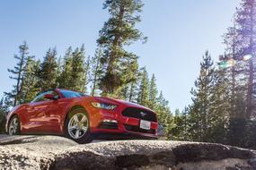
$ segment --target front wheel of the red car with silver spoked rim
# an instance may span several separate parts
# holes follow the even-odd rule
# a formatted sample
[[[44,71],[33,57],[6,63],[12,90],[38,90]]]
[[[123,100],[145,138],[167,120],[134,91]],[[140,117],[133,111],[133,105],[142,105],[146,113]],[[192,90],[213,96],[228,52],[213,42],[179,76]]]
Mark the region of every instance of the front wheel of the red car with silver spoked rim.
[[[90,143],[93,141],[89,116],[82,108],[71,110],[68,113],[64,129],[66,137],[77,143]]]

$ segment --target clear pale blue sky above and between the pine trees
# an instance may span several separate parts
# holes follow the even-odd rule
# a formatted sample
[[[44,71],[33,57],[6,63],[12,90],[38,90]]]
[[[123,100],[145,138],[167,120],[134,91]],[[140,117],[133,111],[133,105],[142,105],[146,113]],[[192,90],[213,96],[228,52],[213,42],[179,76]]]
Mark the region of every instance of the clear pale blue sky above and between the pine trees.
[[[146,44],[128,47],[140,56],[139,64],[154,73],[172,110],[190,104],[190,89],[199,75],[206,50],[212,57],[224,51],[221,36],[232,25],[239,0],[144,0],[142,22],[137,25]],[[49,47],[63,55],[69,46],[83,43],[93,55],[98,32],[109,17],[101,0],[0,1],[0,96],[12,89],[7,68],[26,40],[31,55],[42,58]]]

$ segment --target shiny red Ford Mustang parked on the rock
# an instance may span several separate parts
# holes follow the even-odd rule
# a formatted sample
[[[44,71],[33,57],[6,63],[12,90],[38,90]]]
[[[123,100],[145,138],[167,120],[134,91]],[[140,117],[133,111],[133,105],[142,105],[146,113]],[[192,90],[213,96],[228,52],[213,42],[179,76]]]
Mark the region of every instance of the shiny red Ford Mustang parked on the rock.
[[[86,143],[93,139],[156,139],[157,127],[156,114],[145,106],[50,89],[31,103],[14,107],[7,117],[6,132],[65,135]]]

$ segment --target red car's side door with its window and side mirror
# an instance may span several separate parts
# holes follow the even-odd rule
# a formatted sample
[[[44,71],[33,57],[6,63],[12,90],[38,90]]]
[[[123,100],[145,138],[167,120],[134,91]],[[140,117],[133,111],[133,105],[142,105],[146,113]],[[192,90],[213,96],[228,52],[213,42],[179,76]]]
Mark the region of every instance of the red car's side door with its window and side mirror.
[[[45,133],[50,132],[51,123],[49,123],[49,109],[55,100],[44,98],[46,94],[56,94],[54,90],[41,93],[27,107],[29,123],[26,125],[27,132]]]

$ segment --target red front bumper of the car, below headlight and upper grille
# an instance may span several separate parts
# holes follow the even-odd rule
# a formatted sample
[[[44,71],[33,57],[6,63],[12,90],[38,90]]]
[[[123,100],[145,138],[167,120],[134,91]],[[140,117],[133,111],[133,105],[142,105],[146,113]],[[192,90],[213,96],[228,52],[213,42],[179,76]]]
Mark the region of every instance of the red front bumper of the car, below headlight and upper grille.
[[[96,139],[157,139],[158,123],[151,122],[150,130],[141,129],[141,119],[123,116],[121,111],[124,108],[120,106],[114,111],[94,110],[91,117],[91,132]]]

